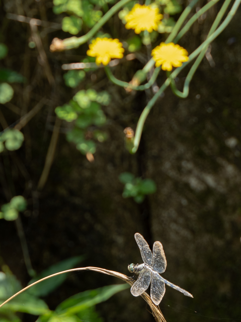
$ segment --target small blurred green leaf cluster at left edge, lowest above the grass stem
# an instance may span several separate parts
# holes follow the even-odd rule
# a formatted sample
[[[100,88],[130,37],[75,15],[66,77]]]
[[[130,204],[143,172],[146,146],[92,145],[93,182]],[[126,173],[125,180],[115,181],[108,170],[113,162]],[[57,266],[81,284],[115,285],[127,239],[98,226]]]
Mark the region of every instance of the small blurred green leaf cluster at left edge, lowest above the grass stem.
[[[24,197],[15,196],[10,200],[10,203],[2,205],[0,219],[15,220],[18,218],[19,211],[24,211],[26,208],[27,202]]]

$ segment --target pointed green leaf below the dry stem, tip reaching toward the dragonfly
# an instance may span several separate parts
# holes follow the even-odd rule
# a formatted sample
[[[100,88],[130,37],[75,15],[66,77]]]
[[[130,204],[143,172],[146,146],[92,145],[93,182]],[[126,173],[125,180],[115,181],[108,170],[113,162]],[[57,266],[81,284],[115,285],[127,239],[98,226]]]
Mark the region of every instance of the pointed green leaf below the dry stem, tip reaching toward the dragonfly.
[[[115,293],[128,289],[128,284],[104,286],[99,289],[78,293],[63,301],[56,308],[57,313],[75,314],[98,303],[104,302]]]

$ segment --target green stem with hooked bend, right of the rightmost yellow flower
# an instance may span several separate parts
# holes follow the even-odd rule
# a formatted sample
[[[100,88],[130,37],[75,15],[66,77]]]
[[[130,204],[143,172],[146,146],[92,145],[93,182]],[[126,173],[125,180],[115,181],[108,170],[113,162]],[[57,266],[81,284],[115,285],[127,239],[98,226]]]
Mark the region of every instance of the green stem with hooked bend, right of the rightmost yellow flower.
[[[231,0],[225,0],[224,4],[222,5],[219,13],[217,14],[211,28],[210,28],[210,31],[208,33],[208,36],[207,38],[210,37],[210,35],[216,30],[216,28],[218,27],[223,15],[225,14],[226,10],[228,9],[228,6],[230,4]],[[204,47],[201,51],[201,53],[199,54],[198,58],[196,59],[195,63],[192,65],[192,68],[190,69],[189,73],[187,74],[187,77],[185,79],[185,82],[184,82],[184,86],[183,86],[183,92],[179,91],[177,88],[176,88],[176,84],[175,84],[175,81],[174,79],[172,78],[171,80],[171,89],[173,91],[173,93],[178,96],[178,97],[181,97],[181,98],[186,98],[189,94],[189,84],[192,80],[192,77],[195,73],[195,71],[197,70],[199,64],[201,63],[206,51],[207,51],[207,46]],[[167,72],[167,76],[169,77],[170,76],[170,72]]]

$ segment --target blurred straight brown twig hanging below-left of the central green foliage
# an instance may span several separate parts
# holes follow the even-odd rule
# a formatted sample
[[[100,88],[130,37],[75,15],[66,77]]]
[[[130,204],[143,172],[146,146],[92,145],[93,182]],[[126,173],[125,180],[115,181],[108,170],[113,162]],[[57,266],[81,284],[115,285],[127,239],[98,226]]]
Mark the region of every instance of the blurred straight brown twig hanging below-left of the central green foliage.
[[[56,145],[57,145],[57,141],[58,141],[60,124],[61,124],[61,120],[59,118],[56,118],[56,121],[54,124],[54,129],[53,129],[53,134],[52,134],[52,137],[51,137],[51,140],[49,143],[49,148],[48,148],[48,152],[47,152],[46,159],[45,159],[44,168],[43,168],[42,174],[39,179],[39,183],[38,183],[38,187],[37,187],[38,190],[43,189],[43,187],[48,179],[49,171],[50,171],[51,165],[53,163],[54,153],[55,153],[55,149],[56,149]]]

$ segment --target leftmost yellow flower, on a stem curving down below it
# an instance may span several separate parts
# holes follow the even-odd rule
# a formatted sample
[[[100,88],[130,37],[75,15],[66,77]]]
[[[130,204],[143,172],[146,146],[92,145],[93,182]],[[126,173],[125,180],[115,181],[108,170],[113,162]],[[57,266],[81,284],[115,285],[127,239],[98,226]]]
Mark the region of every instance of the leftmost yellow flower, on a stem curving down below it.
[[[87,55],[91,57],[96,57],[96,64],[108,65],[111,58],[122,58],[123,52],[122,43],[119,39],[112,38],[96,38],[92,40],[89,45],[89,50],[87,50]]]

